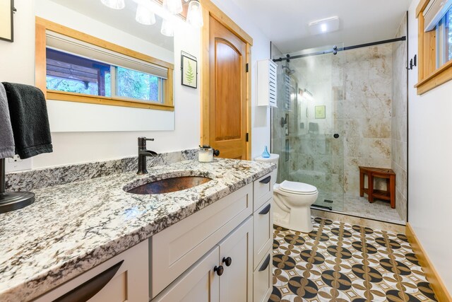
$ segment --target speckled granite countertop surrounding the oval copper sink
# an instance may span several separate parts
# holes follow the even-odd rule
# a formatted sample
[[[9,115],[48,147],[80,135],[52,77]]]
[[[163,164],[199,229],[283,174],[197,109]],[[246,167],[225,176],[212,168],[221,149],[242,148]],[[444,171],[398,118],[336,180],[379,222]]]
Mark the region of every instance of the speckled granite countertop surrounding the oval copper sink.
[[[28,207],[0,214],[0,301],[29,301],[253,182],[276,165],[181,161],[35,190]],[[213,178],[167,194],[124,192],[162,178]],[[133,185],[130,185],[133,183]]]

